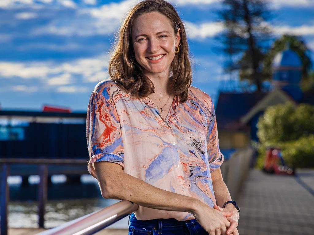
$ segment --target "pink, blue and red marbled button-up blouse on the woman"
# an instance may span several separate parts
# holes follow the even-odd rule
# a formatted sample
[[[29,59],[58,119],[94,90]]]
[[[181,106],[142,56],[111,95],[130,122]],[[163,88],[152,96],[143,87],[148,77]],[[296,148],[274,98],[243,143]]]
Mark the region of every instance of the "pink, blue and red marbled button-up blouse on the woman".
[[[211,172],[224,160],[219,151],[212,99],[191,86],[187,101],[175,96],[167,118],[148,98],[121,91],[112,80],[101,81],[89,100],[86,123],[88,170],[94,162],[110,161],[155,187],[216,203]],[[190,220],[188,212],[139,206],[137,219]]]

